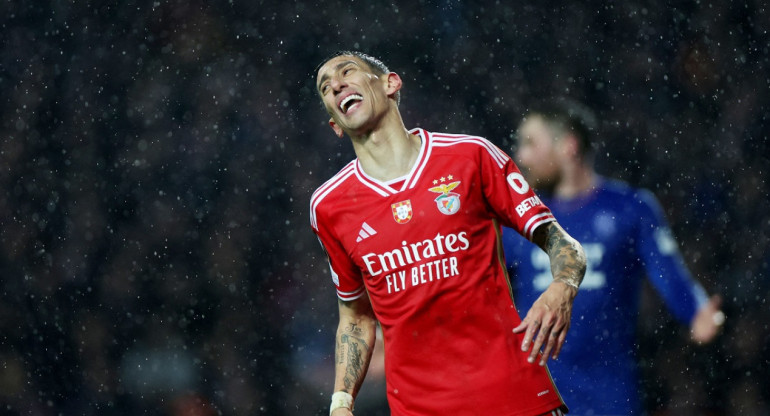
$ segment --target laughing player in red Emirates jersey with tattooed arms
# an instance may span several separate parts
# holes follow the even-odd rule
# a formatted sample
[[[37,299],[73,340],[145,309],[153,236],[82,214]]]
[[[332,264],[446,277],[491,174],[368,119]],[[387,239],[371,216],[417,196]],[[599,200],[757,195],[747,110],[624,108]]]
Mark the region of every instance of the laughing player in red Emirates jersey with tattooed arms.
[[[339,298],[331,416],[353,414],[378,321],[394,416],[566,412],[545,364],[570,326],[585,273],[580,244],[489,141],[407,130],[401,78],[381,61],[341,52],[316,81],[331,128],[357,156],[310,202]],[[553,282],[523,320],[503,225],[552,266]]]

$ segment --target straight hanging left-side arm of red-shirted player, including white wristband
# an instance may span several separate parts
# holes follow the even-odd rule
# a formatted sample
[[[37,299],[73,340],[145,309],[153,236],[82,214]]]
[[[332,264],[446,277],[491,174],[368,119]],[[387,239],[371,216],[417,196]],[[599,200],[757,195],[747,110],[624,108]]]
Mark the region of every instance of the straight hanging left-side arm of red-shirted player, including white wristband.
[[[377,320],[366,295],[352,301],[339,300],[339,313],[340,322],[334,348],[334,391],[335,395],[344,392],[355,397],[364,382],[372,358]],[[335,409],[331,416],[352,414],[351,403],[350,407]]]

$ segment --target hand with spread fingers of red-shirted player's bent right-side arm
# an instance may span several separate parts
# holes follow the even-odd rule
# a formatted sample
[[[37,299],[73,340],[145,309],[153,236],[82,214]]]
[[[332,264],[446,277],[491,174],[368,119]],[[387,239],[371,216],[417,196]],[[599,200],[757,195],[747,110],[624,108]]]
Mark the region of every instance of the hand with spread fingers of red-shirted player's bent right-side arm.
[[[540,365],[545,365],[549,355],[554,359],[558,358],[564,340],[567,339],[575,295],[577,289],[574,287],[559,281],[552,282],[529,308],[521,324],[513,328],[515,334],[526,331],[521,343],[522,351],[528,351],[530,342],[534,339],[528,358],[530,363],[535,362],[541,347],[544,349]]]

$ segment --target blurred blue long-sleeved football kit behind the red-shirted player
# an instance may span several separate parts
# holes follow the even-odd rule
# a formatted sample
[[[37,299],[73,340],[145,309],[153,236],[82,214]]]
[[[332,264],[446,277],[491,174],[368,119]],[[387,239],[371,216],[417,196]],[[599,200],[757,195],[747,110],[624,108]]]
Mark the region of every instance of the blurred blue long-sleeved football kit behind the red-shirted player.
[[[578,197],[541,199],[587,258],[567,340],[559,358],[548,363],[554,382],[570,414],[640,414],[635,324],[643,278],[688,327],[707,302],[706,292],[687,270],[651,192],[600,178]],[[548,255],[507,228],[503,245],[516,276],[516,306],[525,314],[553,281]]]

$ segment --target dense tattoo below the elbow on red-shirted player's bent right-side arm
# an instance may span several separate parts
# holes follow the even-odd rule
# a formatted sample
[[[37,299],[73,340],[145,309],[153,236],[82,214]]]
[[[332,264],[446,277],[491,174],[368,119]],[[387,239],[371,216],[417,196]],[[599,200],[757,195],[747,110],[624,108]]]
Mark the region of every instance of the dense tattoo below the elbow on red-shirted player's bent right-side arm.
[[[556,224],[551,224],[547,233],[545,251],[551,258],[554,280],[577,289],[586,273],[583,247]]]

